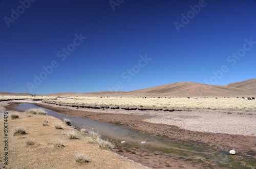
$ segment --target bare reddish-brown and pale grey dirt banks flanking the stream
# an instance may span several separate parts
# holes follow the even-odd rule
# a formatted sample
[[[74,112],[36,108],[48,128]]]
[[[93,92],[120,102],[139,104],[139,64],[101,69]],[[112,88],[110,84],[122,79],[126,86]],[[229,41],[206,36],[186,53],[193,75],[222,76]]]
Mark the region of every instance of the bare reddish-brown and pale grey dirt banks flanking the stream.
[[[123,109],[95,110],[88,108],[77,109],[28,100],[9,101],[8,103],[2,102],[0,104],[11,112],[16,111],[13,106],[17,105],[17,103],[25,102],[52,109],[66,115],[120,124],[123,127],[136,129],[148,134],[166,136],[170,139],[186,142],[199,142],[218,150],[229,151],[234,149],[239,153],[249,154],[256,158],[255,112],[212,110],[182,110],[173,112]],[[115,149],[114,151],[148,167],[205,167],[178,158],[170,158],[150,152],[137,152],[136,150],[124,151],[122,149]]]

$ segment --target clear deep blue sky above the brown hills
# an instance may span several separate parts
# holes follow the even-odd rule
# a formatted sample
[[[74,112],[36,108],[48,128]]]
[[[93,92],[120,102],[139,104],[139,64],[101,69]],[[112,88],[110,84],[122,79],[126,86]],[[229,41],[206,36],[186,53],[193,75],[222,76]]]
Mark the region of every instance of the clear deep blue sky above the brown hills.
[[[255,78],[255,30],[253,0],[2,0],[0,92],[227,85]]]

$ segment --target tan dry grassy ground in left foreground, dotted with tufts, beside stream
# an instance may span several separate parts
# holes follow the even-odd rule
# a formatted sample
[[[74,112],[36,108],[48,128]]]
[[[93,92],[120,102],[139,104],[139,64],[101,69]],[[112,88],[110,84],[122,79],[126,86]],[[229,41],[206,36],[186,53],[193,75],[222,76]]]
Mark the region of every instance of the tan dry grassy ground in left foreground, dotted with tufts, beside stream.
[[[22,126],[26,128],[27,133],[8,135],[8,168],[145,168],[111,151],[100,150],[97,144],[89,144],[87,137],[67,138],[63,131],[74,129],[65,125],[63,130],[56,130],[54,125],[62,123],[59,119],[49,116],[47,117],[51,122],[49,127],[42,126],[45,117],[44,115],[27,117],[26,114],[20,114],[18,120],[8,120],[9,132],[17,126]],[[3,118],[0,119],[0,126],[3,131]],[[0,133],[1,138],[3,134],[4,132]],[[26,142],[29,139],[35,140],[34,146],[27,146]],[[4,142],[0,142],[0,148],[0,154],[4,154]],[[77,153],[90,155],[89,162],[76,162]]]

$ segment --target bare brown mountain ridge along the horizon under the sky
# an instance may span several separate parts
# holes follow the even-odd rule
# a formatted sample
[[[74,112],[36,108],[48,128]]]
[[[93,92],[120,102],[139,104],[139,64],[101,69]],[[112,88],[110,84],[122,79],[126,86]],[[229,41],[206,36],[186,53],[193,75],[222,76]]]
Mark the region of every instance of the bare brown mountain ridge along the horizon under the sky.
[[[0,93],[0,95],[33,95],[29,93],[12,94]],[[39,95],[42,96],[42,95]],[[254,97],[256,96],[256,78],[248,79],[240,82],[233,82],[226,86],[205,85],[197,82],[175,82],[167,85],[161,85],[130,92],[90,92],[90,93],[54,93],[45,96],[166,96],[166,97]]]

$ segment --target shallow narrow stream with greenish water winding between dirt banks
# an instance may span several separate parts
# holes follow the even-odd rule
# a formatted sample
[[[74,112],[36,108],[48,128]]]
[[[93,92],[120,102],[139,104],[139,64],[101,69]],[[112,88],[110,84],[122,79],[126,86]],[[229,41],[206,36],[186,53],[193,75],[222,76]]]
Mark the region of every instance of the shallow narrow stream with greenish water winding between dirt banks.
[[[19,104],[14,108],[26,111],[30,108],[41,108],[34,104]],[[45,108],[43,108],[45,109]],[[228,165],[233,162],[238,162],[229,155],[228,151],[216,151],[204,146],[193,145],[186,142],[178,142],[165,137],[143,134],[135,130],[127,129],[117,125],[104,123],[100,121],[90,120],[86,118],[74,117],[59,114],[56,111],[45,109],[48,115],[63,120],[67,118],[71,120],[71,124],[76,128],[87,128],[100,131],[103,137],[113,139],[114,142],[125,140],[126,147],[138,149],[146,149],[151,152],[162,153],[168,156],[175,156],[185,159],[204,160],[215,164]],[[145,142],[145,144],[141,144]],[[238,165],[240,164],[237,163]]]

